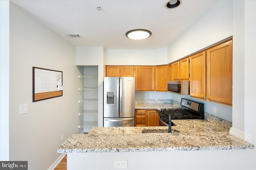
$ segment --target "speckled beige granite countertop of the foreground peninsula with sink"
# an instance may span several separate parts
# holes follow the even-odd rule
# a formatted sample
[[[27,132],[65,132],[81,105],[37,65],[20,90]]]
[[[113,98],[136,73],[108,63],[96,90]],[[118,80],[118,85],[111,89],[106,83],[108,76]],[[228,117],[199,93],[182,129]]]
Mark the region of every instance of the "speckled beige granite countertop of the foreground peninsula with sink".
[[[88,134],[73,134],[58,148],[59,153],[150,152],[172,150],[254,149],[254,145],[230,135],[225,124],[208,120],[172,120],[168,127],[93,127]]]

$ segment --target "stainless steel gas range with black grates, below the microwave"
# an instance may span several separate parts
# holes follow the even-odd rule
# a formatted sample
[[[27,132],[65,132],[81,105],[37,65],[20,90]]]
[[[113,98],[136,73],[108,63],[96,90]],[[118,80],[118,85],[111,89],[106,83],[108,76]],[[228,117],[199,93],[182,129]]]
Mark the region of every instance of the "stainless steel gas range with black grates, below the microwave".
[[[188,99],[181,99],[180,109],[160,109],[159,119],[164,125],[169,125],[169,114],[171,119],[204,119],[204,104]]]

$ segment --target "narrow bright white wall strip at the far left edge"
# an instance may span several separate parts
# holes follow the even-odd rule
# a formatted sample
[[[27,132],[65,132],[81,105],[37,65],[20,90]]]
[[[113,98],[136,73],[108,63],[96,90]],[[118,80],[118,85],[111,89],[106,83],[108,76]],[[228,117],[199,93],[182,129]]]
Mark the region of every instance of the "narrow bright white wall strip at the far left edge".
[[[9,160],[9,1],[0,1],[0,160]]]

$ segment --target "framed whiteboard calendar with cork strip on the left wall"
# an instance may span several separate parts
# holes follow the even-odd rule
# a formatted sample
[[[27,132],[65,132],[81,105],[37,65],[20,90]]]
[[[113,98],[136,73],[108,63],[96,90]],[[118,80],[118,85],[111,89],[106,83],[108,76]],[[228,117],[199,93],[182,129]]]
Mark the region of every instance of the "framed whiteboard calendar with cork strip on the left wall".
[[[62,96],[62,71],[33,67],[33,102]]]

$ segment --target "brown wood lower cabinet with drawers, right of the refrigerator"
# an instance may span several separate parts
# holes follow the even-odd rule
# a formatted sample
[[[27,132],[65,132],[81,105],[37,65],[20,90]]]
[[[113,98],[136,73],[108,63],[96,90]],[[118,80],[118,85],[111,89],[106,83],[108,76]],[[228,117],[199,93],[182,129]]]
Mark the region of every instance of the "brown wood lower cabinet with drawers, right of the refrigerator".
[[[135,126],[159,126],[157,109],[136,109]]]

